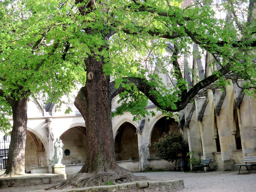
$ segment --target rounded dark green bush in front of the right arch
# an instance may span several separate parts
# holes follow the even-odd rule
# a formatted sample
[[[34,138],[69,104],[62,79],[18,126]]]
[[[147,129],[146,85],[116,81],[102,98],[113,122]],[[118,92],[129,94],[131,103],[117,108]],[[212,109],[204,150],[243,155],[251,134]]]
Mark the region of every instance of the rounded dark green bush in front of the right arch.
[[[181,133],[172,132],[164,133],[158,142],[154,143],[156,155],[168,162],[174,162],[178,155],[186,156],[188,143],[183,141]]]

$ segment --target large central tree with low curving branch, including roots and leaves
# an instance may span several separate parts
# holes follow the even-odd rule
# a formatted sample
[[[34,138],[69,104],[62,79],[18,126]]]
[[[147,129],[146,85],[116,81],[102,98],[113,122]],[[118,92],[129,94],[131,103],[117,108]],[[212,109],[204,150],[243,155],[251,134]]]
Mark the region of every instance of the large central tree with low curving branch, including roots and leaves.
[[[77,72],[86,74],[85,86],[79,90],[74,104],[85,120],[90,141],[87,163],[79,174],[58,187],[138,179],[115,162],[111,116],[122,114],[123,111],[130,111],[135,116],[134,120],[154,115],[153,111],[145,110],[148,99],[163,112],[180,111],[202,88],[217,80],[217,86],[223,85],[226,77],[245,79],[242,88],[248,93],[255,93],[255,19],[252,19],[255,0],[251,0],[248,5],[246,21],[239,20],[237,14],[230,14],[228,21],[216,19],[210,3],[196,2],[187,8],[181,8],[176,1],[156,0],[48,0],[20,3],[29,7],[30,15],[26,17],[29,18],[25,19],[26,22],[34,20],[34,14],[37,16],[36,22],[25,22],[26,26],[35,25],[39,31],[47,31],[48,34],[37,31],[26,41],[27,44],[35,42],[35,45],[38,42],[40,49],[44,50],[37,53],[42,60],[35,58],[35,61],[49,61],[49,65],[55,63],[54,66],[59,70],[63,65],[66,69],[79,66]],[[231,4],[238,6],[239,3]],[[30,6],[34,9],[30,10]],[[229,3],[225,4],[225,8],[230,8],[234,13],[242,10],[239,7],[232,8]],[[12,6],[5,9],[12,10]],[[247,14],[244,11],[242,13]],[[26,14],[16,14],[18,18],[21,15]],[[12,23],[6,18],[7,24]],[[14,20],[19,22],[19,19]],[[40,25],[41,22],[44,24]],[[5,31],[17,33],[9,25],[5,26],[8,27]],[[45,38],[48,40],[45,41]],[[166,46],[166,43],[172,46]],[[195,83],[187,82],[182,73],[189,71],[180,65],[179,59],[190,53],[188,44],[196,44],[212,54],[220,65],[219,69],[206,78],[200,79],[194,75]],[[7,48],[6,43],[4,45]],[[24,45],[19,44],[17,48]],[[171,54],[163,55],[165,48]],[[24,52],[24,55],[37,57],[30,51]],[[68,64],[63,63],[61,58]],[[34,64],[33,69],[37,69],[35,63],[31,63]],[[164,69],[167,64],[172,66],[170,72],[176,87],[165,86],[153,72],[153,66],[162,66]],[[42,69],[44,65],[39,66]],[[26,85],[26,82],[23,81],[21,86]],[[21,94],[18,92],[18,95]],[[113,114],[111,101],[117,95],[122,105]]]

